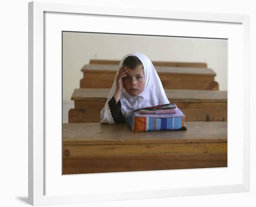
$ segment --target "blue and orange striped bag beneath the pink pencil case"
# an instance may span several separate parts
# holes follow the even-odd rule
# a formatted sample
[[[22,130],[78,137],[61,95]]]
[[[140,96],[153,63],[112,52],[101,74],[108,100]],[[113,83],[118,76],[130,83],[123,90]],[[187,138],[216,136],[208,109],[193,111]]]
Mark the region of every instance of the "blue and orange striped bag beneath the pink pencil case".
[[[187,130],[185,115],[178,107],[167,114],[142,114],[136,110],[128,116],[128,124],[134,132]]]

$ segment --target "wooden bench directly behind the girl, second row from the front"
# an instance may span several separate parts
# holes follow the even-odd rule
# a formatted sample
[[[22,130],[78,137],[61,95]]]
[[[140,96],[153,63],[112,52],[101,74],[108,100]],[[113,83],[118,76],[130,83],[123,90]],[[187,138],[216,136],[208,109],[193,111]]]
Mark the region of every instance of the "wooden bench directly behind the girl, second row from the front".
[[[71,100],[74,108],[68,112],[69,123],[100,122],[100,112],[110,89],[75,89]],[[170,102],[174,102],[186,115],[186,121],[226,121],[227,91],[166,89]]]

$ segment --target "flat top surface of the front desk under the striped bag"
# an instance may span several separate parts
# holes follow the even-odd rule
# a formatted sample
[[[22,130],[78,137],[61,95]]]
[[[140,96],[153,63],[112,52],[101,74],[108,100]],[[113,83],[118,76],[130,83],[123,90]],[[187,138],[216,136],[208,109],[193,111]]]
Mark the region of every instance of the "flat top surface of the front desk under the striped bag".
[[[63,144],[141,144],[175,142],[226,142],[227,122],[189,122],[187,131],[133,132],[128,124],[67,123],[63,124]],[[83,143],[85,142],[85,143]]]

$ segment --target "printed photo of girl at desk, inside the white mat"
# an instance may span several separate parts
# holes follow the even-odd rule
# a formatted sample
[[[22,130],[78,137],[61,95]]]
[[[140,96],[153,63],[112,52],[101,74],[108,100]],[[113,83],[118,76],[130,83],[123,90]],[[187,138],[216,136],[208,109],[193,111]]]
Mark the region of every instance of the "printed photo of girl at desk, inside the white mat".
[[[227,39],[62,31],[62,173],[228,167],[227,49]],[[117,125],[101,125],[101,109],[118,64],[132,51],[150,57],[172,108],[145,111],[134,105],[132,111],[142,125],[137,118],[124,123],[116,116]],[[132,57],[125,64],[136,63]],[[135,68],[129,70],[131,75]],[[133,87],[139,86],[141,77],[147,79],[144,74],[135,77]],[[123,94],[130,93],[129,85]],[[157,82],[155,87],[159,86]],[[154,91],[149,96],[148,88],[133,97],[149,100],[152,107],[159,98]],[[121,101],[125,110],[127,104],[124,98]],[[145,102],[138,104],[145,107]],[[140,130],[148,132],[136,133]]]

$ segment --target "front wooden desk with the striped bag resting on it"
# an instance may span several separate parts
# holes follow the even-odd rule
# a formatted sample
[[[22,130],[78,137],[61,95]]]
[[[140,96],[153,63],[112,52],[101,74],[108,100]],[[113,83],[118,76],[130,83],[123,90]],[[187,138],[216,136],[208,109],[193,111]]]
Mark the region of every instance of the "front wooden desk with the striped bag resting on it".
[[[227,122],[186,127],[132,132],[127,124],[63,124],[62,174],[227,167]]]

